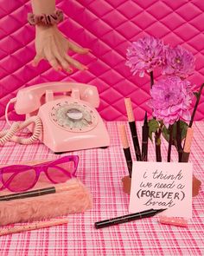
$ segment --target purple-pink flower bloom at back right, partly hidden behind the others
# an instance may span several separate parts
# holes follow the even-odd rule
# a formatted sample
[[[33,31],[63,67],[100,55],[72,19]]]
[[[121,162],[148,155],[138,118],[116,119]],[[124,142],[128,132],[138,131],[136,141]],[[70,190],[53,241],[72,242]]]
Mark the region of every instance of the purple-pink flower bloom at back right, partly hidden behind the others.
[[[194,56],[181,46],[166,50],[166,64],[163,75],[178,75],[182,79],[194,72]]]

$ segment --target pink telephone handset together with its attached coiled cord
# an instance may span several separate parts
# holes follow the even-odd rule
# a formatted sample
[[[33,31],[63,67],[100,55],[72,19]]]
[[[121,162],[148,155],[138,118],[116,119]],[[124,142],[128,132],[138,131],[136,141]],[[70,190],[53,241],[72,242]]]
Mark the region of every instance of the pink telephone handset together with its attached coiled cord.
[[[16,102],[15,109],[19,115],[30,114],[41,107],[41,96],[47,94],[47,98],[52,97],[54,92],[71,92],[73,98],[88,102],[93,108],[99,107],[99,93],[96,87],[83,83],[74,82],[48,82],[40,85],[35,85],[29,88],[18,91],[16,98],[11,99],[6,107],[6,121],[10,124],[7,117],[7,112],[10,103]],[[28,127],[34,123],[33,135],[29,138],[21,138],[16,136],[16,132],[22,128]],[[21,144],[31,144],[37,140],[42,132],[42,122],[39,116],[33,115],[26,121],[15,122],[9,129],[0,132],[0,146],[3,146],[6,141],[15,141]]]

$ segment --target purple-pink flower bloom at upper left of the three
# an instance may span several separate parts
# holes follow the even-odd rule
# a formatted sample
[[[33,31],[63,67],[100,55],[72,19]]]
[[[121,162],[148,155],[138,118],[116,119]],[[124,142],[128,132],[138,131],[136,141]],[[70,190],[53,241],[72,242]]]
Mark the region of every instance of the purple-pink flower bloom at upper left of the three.
[[[164,49],[163,41],[153,36],[140,38],[127,49],[125,65],[131,68],[133,75],[139,72],[143,77],[144,71],[150,73],[156,66],[164,63]]]

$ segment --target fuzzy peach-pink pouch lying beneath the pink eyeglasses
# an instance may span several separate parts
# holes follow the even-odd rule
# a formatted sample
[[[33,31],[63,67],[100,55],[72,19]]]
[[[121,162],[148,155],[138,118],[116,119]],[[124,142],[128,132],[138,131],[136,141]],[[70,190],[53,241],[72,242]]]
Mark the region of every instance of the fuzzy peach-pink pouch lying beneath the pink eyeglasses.
[[[52,187],[52,184],[38,184],[35,188]],[[16,222],[30,222],[60,217],[69,213],[83,213],[92,208],[92,196],[83,183],[73,178],[57,184],[57,193],[25,199],[0,201],[0,225]],[[34,189],[34,188],[33,188]],[[3,194],[11,194],[8,191]]]

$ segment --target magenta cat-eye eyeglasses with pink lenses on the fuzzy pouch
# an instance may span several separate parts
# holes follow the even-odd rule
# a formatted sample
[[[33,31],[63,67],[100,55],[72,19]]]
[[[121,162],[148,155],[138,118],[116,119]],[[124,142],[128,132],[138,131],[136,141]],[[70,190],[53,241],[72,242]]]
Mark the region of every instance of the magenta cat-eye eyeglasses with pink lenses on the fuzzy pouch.
[[[52,183],[65,182],[76,177],[78,162],[78,155],[69,155],[34,166],[13,165],[2,167],[0,168],[0,181],[2,181],[3,187],[0,189],[8,188],[11,192],[26,191],[35,186],[41,172],[44,172]]]

